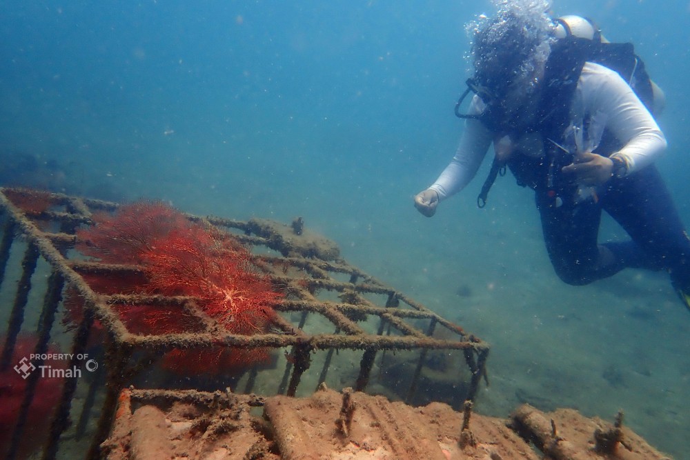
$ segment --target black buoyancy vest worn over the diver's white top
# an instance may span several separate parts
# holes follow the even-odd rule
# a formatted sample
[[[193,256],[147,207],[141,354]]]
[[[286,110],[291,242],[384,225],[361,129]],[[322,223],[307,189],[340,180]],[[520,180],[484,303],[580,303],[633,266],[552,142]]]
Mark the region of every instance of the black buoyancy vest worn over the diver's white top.
[[[586,61],[599,63],[618,72],[627,81],[642,103],[651,111],[653,91],[644,63],[635,55],[632,43],[600,43],[589,39],[566,37],[551,47],[542,80],[542,95],[535,122],[519,132],[510,132],[513,139],[523,134],[538,132],[544,143],[544,155],[527,157],[513,152],[507,166],[517,179],[517,184],[535,190],[549,188],[559,196],[567,196],[575,185],[561,178],[560,170],[572,163],[572,156],[563,152],[555,143],[563,145],[566,128],[571,123],[570,108],[578,86],[578,80]],[[489,126],[490,123],[486,123]],[[493,126],[492,128],[495,128]],[[555,142],[555,143],[554,143]],[[604,130],[596,153],[609,156],[621,147],[620,141]],[[492,172],[477,198],[480,207],[486,202],[492,179],[502,168],[494,159]]]

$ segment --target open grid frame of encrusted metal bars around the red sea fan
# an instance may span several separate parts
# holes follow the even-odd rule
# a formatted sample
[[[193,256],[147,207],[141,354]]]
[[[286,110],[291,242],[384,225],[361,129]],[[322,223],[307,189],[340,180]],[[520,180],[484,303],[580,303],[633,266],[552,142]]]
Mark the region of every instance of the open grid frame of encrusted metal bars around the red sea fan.
[[[10,197],[15,197],[15,201],[18,201],[17,194],[22,194],[29,200],[48,199],[50,205],[47,209],[39,211],[22,209],[17,206],[22,203],[13,203],[8,194]],[[22,297],[26,297],[26,291],[31,288],[30,277],[35,269],[33,259],[36,254],[44,259],[50,265],[53,274],[59,277],[60,288],[64,284],[65,289],[74,290],[83,299],[84,314],[75,334],[72,351],[84,350],[94,319],[100,321],[107,334],[104,344],[106,346],[107,394],[90,457],[97,456],[98,443],[107,435],[119,390],[128,384],[128,378],[135,373],[135,366],[130,363],[132,355],[142,350],[161,354],[175,348],[197,349],[201,352],[212,346],[290,348],[284,377],[277,389],[277,393],[285,393],[288,396],[295,395],[302,374],[308,370],[311,356],[317,350],[327,351],[319,374],[319,383],[326,380],[334,352],[362,350],[357,381],[353,384],[355,390],[359,391],[365,390],[368,384],[377,353],[381,352],[380,359],[383,363],[386,350],[393,352],[419,350],[420,356],[417,359],[414,374],[411,376],[411,385],[406,392],[407,401],[411,401],[415,395],[427,353],[430,350],[449,350],[449,352],[457,350],[462,353],[471,376],[469,382],[458,382],[458,387],[463,390],[458,390],[457,401],[475,397],[480,379],[485,375],[485,363],[489,353],[488,344],[339,258],[335,244],[328,246],[328,241],[322,237],[315,237],[308,230],[303,232],[301,219],[299,219],[300,226],[297,233],[294,223],[290,228],[287,225],[260,219],[236,221],[187,215],[191,221],[215,226],[248,246],[252,250],[253,264],[269,277],[275,289],[284,292],[284,300],[276,306],[275,310],[283,312],[285,317],[277,315],[275,333],[272,331],[255,335],[230,334],[198,308],[192,297],[144,294],[106,295],[94,292],[86,283],[83,274],[141,273],[141,267],[138,266],[83,260],[73,250],[77,239],[75,234],[77,228],[90,224],[93,212],[114,212],[118,206],[117,203],[70,197],[64,194],[0,188],[0,215],[6,216],[3,239],[0,242],[0,250],[2,250],[0,274],[3,274],[6,269],[12,242],[18,237],[28,242],[22,274],[23,278],[28,278],[23,284],[20,283],[12,308],[12,320],[3,348],[3,365],[8,366],[6,361],[12,356],[12,343],[16,340],[21,328],[23,309],[26,307],[26,299]],[[339,281],[340,279],[347,281]],[[2,277],[0,277],[1,281],[3,281]],[[52,295],[55,297],[55,294]],[[336,297],[338,301],[334,300]],[[50,321],[57,310],[59,298],[53,299],[52,303],[53,305],[48,308],[48,310],[52,308]],[[199,325],[199,330],[175,334],[134,334],[127,329],[113,307],[135,304],[177,308],[193,317]],[[289,321],[288,319],[295,314],[299,317],[299,321]],[[308,314],[327,320],[334,332],[329,333],[326,330],[319,330],[317,333],[306,332],[303,328]],[[377,323],[375,333],[367,332],[360,326],[360,323],[370,321]],[[421,330],[419,324],[424,325],[424,330]],[[46,341],[51,326],[52,324],[42,326],[45,329],[43,334],[46,335]],[[45,343],[42,346],[44,348]],[[253,390],[256,375],[256,370],[250,372],[250,379],[244,388],[245,392]],[[76,383],[69,382],[63,386],[62,403],[53,419],[50,441],[44,450],[43,458],[55,457],[60,434],[67,426],[66,420],[75,386]],[[21,428],[18,431],[21,434]]]

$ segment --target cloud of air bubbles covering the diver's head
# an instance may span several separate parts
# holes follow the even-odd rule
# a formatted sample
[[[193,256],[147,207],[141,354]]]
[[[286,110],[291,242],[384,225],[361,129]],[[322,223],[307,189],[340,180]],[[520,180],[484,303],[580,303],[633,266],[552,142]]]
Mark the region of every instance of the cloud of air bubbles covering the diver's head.
[[[484,15],[467,25],[470,59],[478,83],[495,90],[516,84],[530,92],[534,70],[549,57],[555,23],[546,0],[492,0],[495,17]]]

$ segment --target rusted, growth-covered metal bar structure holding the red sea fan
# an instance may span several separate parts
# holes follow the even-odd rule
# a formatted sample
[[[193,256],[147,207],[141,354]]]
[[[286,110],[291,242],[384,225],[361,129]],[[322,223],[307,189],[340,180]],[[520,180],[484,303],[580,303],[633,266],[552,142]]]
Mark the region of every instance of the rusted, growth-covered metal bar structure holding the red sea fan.
[[[17,197],[21,198],[18,199]],[[23,206],[23,203],[47,200],[48,206],[36,210]],[[294,396],[305,372],[315,362],[318,378],[311,392],[321,383],[327,382],[333,368],[342,370],[355,366],[354,381],[338,381],[329,386],[352,386],[364,391],[370,382],[374,366],[379,376],[386,379],[389,363],[399,363],[400,354],[411,353],[409,362],[411,372],[404,382],[406,390],[402,398],[415,402],[420,392],[420,381],[431,359],[430,354],[441,350],[447,357],[460,357],[454,361],[464,363],[464,374],[453,382],[454,394],[449,403],[456,407],[462,401],[473,399],[477,386],[485,375],[486,358],[489,346],[482,340],[468,334],[459,326],[443,319],[420,303],[408,298],[402,292],[385,286],[362,270],[339,258],[337,246],[304,228],[304,222],[296,219],[292,226],[251,219],[236,221],[215,217],[188,216],[193,221],[204,221],[224,231],[230,232],[242,243],[250,246],[253,263],[270,277],[276,288],[285,293],[284,300],[276,310],[281,312],[275,324],[275,333],[256,335],[228,334],[212,318],[202,312],[190,297],[164,297],[159,295],[104,295],[94,292],[86,283],[83,274],[137,273],[137,266],[112,265],[85,260],[75,248],[75,231],[79,226],[90,224],[90,217],[97,211],[114,211],[117,203],[70,197],[64,194],[48,194],[32,190],[0,188],[0,223],[3,234],[0,239],[0,283],[8,279],[11,270],[19,273],[14,302],[8,316],[8,328],[0,355],[0,372],[17,363],[11,362],[14,344],[22,330],[24,316],[32,307],[28,301],[30,292],[37,290],[40,281],[43,292],[43,311],[40,314],[37,330],[39,337],[36,354],[48,348],[51,331],[55,332],[55,317],[61,306],[61,292],[70,289],[83,299],[83,316],[72,330],[68,367],[80,366],[78,361],[87,350],[90,329],[98,320],[106,333],[103,339],[104,381],[92,378],[88,390],[81,401],[81,413],[75,414],[72,402],[77,392],[77,379],[65,379],[62,397],[52,418],[49,439],[43,450],[43,458],[55,458],[59,441],[69,426],[69,421],[77,422],[75,436],[79,438],[86,431],[86,421],[96,399],[95,393],[105,388],[105,396],[100,405],[101,412],[97,428],[89,438],[90,457],[97,457],[98,446],[105,439],[112,412],[115,410],[117,395],[121,388],[128,386],[132,379],[151,366],[157,357],[175,348],[184,350],[204,350],[225,346],[235,348],[270,348],[284,350],[277,354],[282,364],[282,378],[273,390],[262,387],[264,394],[286,394]],[[295,224],[297,223],[297,225]],[[299,231],[297,231],[299,230]],[[12,266],[10,257],[23,251],[23,259]],[[43,275],[36,277],[37,272]],[[46,281],[43,281],[45,279]],[[8,284],[8,283],[5,283]],[[7,289],[3,286],[3,289]],[[35,296],[34,296],[35,297]],[[165,307],[194,317],[199,323],[195,332],[179,334],[141,335],[128,330],[117,311],[118,305],[141,305]],[[4,306],[0,306],[0,312]],[[349,350],[355,355],[348,354]],[[388,354],[386,354],[388,353]],[[316,355],[319,359],[315,359]],[[397,356],[395,356],[397,354]],[[349,362],[343,363],[343,359]],[[336,363],[336,361],[341,361]],[[355,360],[354,362],[352,362]],[[358,362],[357,362],[358,361]],[[336,366],[337,364],[337,366]],[[277,368],[278,366],[276,366]],[[455,366],[458,367],[458,366]],[[102,370],[102,368],[101,368]],[[257,381],[261,380],[261,369],[252,369],[244,377],[244,386],[235,392],[253,393],[257,391]],[[28,379],[26,394],[19,421],[14,428],[10,447],[10,458],[17,450],[26,420],[26,411],[34,394],[37,374]],[[341,380],[342,380],[341,376]],[[32,380],[31,380],[32,379]],[[316,381],[317,380],[317,381]],[[103,385],[105,384],[105,385]],[[219,382],[221,388],[223,382]],[[303,385],[304,386],[304,385]],[[224,387],[222,387],[224,388]],[[300,390],[302,391],[302,390]]]

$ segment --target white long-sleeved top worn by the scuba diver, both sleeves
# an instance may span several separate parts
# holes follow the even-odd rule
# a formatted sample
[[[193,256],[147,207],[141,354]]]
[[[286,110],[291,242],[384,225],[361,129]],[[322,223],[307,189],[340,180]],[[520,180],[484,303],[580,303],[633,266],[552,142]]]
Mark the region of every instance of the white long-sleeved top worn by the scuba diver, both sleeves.
[[[481,110],[482,101],[473,97],[470,112]],[[615,156],[625,161],[628,174],[653,163],[666,150],[664,134],[630,86],[617,72],[599,64],[584,63],[570,112],[573,120],[582,120],[583,114],[603,114],[607,128],[624,145]],[[466,120],[453,160],[429,187],[439,199],[460,192],[475,177],[493,137],[480,121]]]

